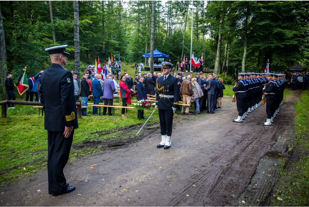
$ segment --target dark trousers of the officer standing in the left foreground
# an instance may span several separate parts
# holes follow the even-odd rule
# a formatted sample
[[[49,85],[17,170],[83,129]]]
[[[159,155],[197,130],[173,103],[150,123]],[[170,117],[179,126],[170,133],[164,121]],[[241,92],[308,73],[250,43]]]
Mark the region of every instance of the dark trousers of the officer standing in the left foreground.
[[[65,138],[63,132],[47,131],[48,134],[48,192],[60,193],[66,189],[66,177],[63,168],[68,162],[74,129],[69,138]]]

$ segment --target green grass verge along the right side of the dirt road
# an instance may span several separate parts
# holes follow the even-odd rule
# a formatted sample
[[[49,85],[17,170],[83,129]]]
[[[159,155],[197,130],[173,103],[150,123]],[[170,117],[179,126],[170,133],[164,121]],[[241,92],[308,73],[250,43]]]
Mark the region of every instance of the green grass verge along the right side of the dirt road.
[[[289,89],[285,90],[291,94]],[[294,132],[296,134],[297,146],[302,155],[297,162],[291,163],[292,170],[285,170],[286,162],[283,162],[279,171],[276,184],[278,189],[273,195],[271,206],[308,206],[309,205],[309,156],[308,156],[308,131],[309,131],[309,92],[304,91],[297,101],[296,120]],[[277,198],[280,197],[282,201]]]

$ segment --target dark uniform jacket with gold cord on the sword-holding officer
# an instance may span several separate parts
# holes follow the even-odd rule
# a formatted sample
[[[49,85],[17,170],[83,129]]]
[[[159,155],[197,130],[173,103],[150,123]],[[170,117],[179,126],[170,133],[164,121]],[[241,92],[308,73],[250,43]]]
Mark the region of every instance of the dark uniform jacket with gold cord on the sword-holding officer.
[[[178,78],[172,76],[169,74],[164,80],[164,75],[157,78],[156,81],[156,90],[157,90],[157,96],[156,96],[156,105],[158,106],[158,109],[162,110],[172,110],[172,107],[177,108],[178,106],[178,100],[179,100],[179,82]],[[167,98],[167,97],[160,97],[159,94],[163,95],[169,95],[174,96],[173,98]]]

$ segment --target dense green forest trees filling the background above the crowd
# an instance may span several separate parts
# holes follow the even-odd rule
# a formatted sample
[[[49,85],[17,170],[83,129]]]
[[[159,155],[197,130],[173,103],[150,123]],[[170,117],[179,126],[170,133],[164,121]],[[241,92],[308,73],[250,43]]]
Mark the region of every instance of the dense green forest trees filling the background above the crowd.
[[[162,4],[79,1],[75,21],[79,22],[80,71],[94,65],[98,56],[105,64],[111,53],[116,59],[120,54],[122,62],[147,65],[142,53],[150,53],[152,15],[154,48],[169,54],[174,64],[184,55],[190,59],[193,19],[194,56],[203,54],[204,67],[216,74],[224,65],[230,75],[261,72],[268,59],[272,71],[296,63],[309,66],[307,1],[193,1],[193,10],[192,1]],[[68,45],[66,69],[74,70],[74,1],[1,1],[0,6],[0,41],[5,40],[5,48],[0,46],[2,94],[6,70],[17,74],[14,80],[25,65],[28,77],[49,68],[44,49],[50,46]]]

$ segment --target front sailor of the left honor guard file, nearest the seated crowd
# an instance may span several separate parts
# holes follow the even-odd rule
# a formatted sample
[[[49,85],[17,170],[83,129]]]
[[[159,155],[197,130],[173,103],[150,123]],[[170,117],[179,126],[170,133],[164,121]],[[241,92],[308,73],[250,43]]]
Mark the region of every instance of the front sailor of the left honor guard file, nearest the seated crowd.
[[[238,73],[239,82],[232,89],[236,94],[236,106],[238,111],[238,117],[234,119],[233,122],[242,122],[245,113],[244,101],[246,98],[246,81],[243,80],[244,76],[244,73]]]

